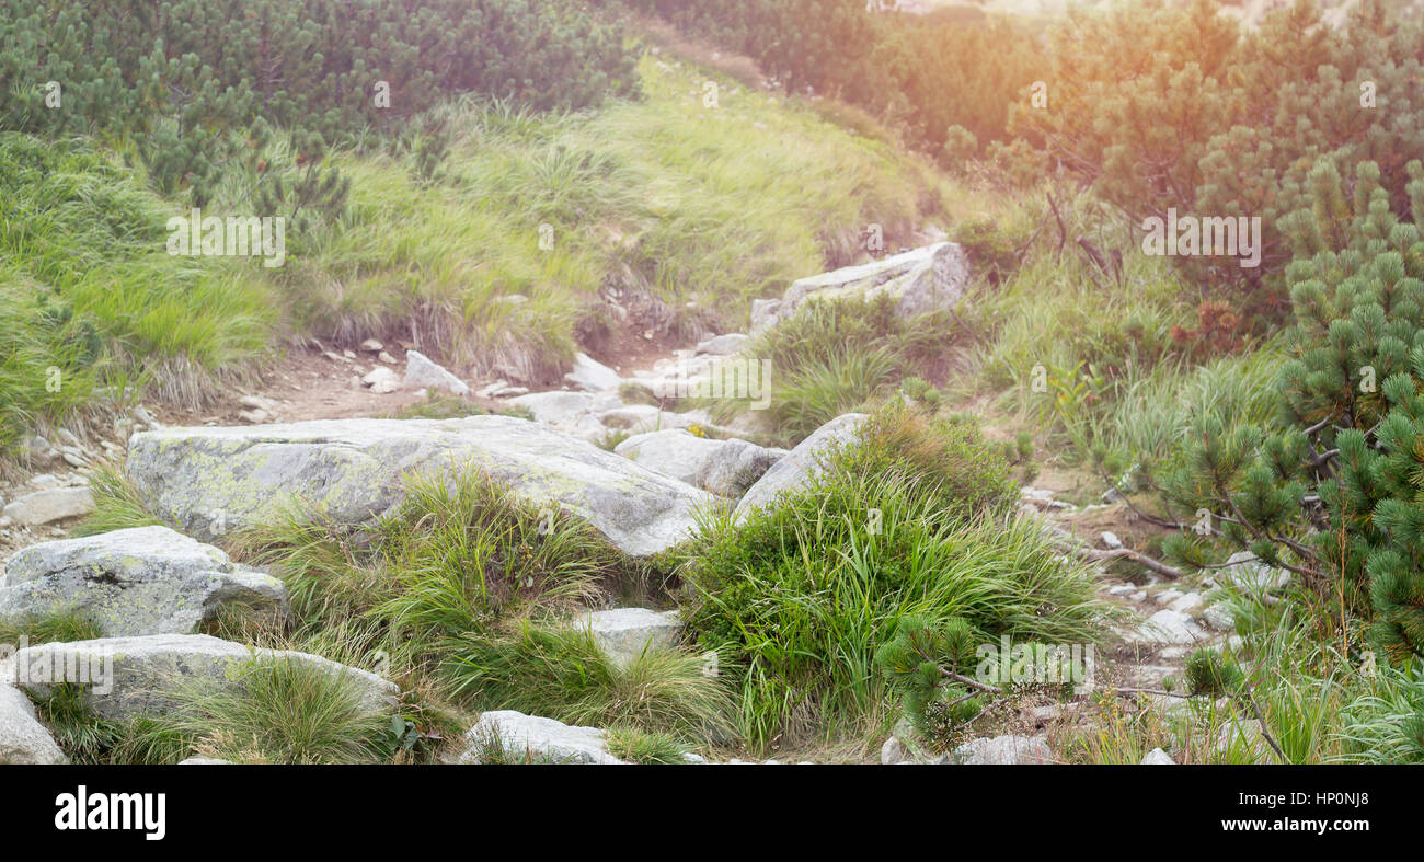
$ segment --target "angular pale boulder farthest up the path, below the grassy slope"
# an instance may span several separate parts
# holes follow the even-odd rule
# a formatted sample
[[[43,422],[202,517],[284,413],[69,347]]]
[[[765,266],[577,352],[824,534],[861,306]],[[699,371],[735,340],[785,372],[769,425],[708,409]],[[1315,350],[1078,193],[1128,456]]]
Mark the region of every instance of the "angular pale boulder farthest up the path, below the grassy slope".
[[[900,316],[916,316],[941,308],[953,308],[964,295],[970,278],[968,258],[954,242],[937,242],[916,248],[883,261],[844,266],[792,282],[775,309],[762,306],[758,328],[775,325],[796,313],[809,301],[874,299],[889,295],[896,299]],[[753,305],[753,318],[758,309]]]

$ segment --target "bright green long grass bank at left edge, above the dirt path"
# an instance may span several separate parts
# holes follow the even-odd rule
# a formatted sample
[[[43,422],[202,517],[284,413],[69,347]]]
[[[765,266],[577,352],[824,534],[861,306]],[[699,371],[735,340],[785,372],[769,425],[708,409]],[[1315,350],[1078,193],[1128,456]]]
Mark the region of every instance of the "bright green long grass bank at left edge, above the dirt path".
[[[197,407],[275,328],[258,264],[171,256],[171,208],[81,140],[0,133],[0,450],[137,392]]]

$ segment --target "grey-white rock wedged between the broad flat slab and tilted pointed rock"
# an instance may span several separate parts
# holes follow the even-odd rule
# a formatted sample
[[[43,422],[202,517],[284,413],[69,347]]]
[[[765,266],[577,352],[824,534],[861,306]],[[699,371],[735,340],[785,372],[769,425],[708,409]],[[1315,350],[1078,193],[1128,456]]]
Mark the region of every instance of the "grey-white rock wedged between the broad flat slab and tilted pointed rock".
[[[618,455],[722,497],[740,497],[787,455],[746,440],[712,440],[685,430],[635,435],[614,447]]]

